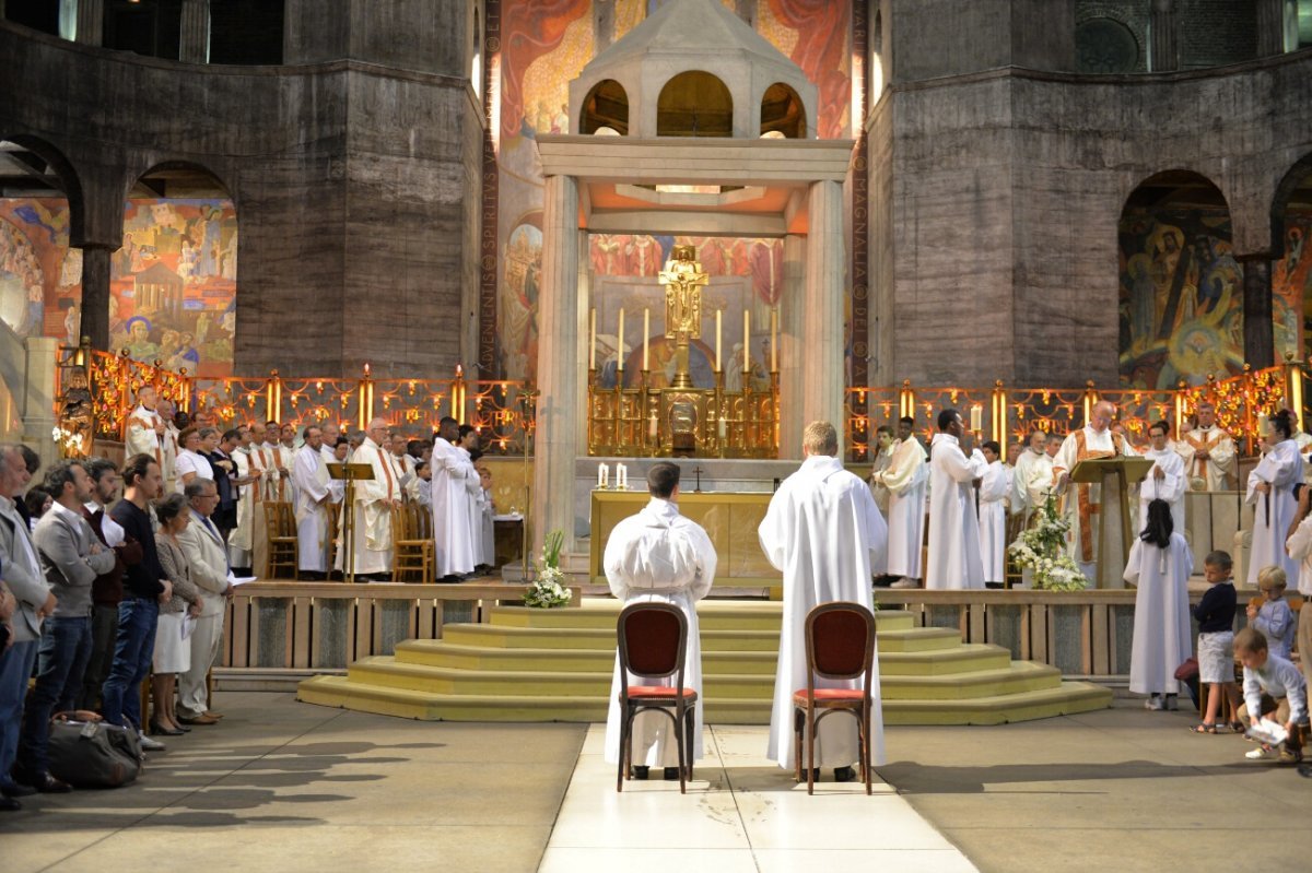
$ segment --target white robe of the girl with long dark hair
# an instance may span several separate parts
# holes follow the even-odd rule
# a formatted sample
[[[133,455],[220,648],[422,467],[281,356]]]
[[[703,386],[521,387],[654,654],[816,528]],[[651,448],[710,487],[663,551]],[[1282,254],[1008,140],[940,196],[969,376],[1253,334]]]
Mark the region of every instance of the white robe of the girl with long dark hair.
[[[1189,574],[1194,557],[1177,531],[1158,548],[1135,537],[1126,582],[1135,592],[1135,636],[1130,649],[1130,691],[1173,695],[1179,691],[1176,667],[1193,651],[1189,624]]]

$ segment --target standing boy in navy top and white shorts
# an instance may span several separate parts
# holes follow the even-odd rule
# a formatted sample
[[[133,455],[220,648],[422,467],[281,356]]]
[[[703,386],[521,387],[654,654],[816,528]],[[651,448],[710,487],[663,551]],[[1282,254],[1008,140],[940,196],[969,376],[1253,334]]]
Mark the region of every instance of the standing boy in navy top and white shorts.
[[[1210,684],[1207,712],[1203,721],[1190,730],[1195,734],[1215,734],[1216,717],[1239,707],[1239,687],[1235,684],[1235,581],[1231,578],[1233,561],[1229,552],[1211,552],[1203,561],[1203,578],[1212,587],[1194,607],[1198,619],[1198,682]],[[1227,705],[1220,712],[1223,704]],[[1244,730],[1237,717],[1229,717],[1232,730]]]

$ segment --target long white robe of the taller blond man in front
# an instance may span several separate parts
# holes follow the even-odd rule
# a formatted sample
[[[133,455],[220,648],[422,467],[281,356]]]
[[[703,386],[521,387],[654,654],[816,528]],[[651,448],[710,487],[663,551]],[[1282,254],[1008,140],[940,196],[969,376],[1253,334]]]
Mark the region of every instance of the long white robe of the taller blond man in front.
[[[783,572],[783,624],[774,676],[768,756],[791,769],[792,692],[807,687],[807,613],[821,603],[848,600],[872,608],[871,565],[888,541],[875,498],[861,478],[828,455],[812,455],[783,480],[757,530],[761,549]],[[817,688],[855,688],[858,680],[816,679]],[[875,653],[871,763],[884,763],[884,720]],[[825,718],[816,731],[816,766],[848,767],[858,758],[853,718]]]

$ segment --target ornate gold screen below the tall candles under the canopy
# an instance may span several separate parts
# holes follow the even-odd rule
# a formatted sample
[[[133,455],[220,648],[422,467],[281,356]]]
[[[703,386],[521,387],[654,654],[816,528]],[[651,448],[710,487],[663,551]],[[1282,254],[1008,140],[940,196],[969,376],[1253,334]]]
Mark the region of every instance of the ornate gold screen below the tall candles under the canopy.
[[[636,387],[602,387],[588,371],[588,454],[606,457],[765,457],[779,456],[779,374],[770,389],[726,391],[724,372],[714,388],[653,387],[651,372]],[[678,381],[676,379],[676,381]]]

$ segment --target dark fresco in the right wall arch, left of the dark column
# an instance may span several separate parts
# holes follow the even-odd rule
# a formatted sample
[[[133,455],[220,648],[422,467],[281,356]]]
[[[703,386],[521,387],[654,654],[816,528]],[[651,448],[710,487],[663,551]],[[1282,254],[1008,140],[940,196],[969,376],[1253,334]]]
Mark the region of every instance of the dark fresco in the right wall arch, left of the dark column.
[[[1224,211],[1120,222],[1120,383],[1202,384],[1244,367],[1244,274]]]

